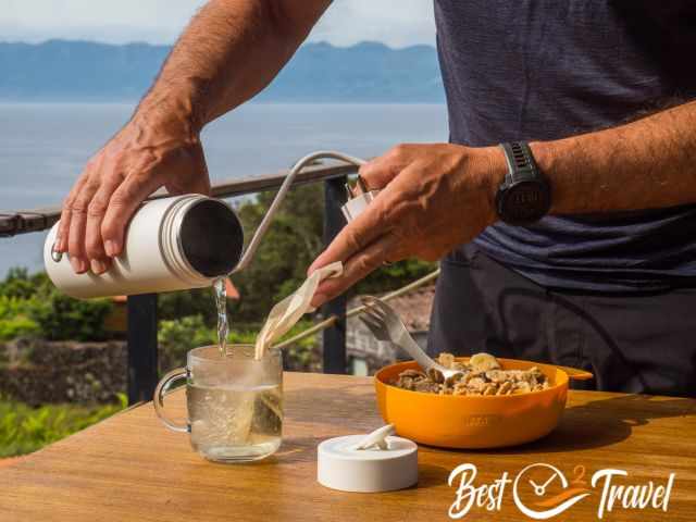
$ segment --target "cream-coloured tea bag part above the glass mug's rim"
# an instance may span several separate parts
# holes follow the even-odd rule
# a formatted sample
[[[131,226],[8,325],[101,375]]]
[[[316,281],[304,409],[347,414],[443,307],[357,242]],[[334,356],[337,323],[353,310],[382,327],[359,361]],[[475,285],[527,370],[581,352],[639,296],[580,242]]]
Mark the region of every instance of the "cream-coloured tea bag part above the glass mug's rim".
[[[275,340],[287,333],[304,313],[312,311],[312,297],[314,297],[314,293],[322,281],[328,277],[336,277],[343,272],[344,266],[340,261],[321,268],[304,279],[304,283],[294,294],[273,307],[265,324],[257,336],[256,358],[261,359],[265,350]]]

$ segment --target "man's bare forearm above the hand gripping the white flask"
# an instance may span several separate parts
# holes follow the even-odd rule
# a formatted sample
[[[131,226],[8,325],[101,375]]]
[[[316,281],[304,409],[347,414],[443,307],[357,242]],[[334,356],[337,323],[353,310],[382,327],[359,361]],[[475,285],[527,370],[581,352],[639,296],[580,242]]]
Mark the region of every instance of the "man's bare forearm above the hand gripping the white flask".
[[[330,0],[211,0],[181,36],[136,114],[196,133],[265,87]]]

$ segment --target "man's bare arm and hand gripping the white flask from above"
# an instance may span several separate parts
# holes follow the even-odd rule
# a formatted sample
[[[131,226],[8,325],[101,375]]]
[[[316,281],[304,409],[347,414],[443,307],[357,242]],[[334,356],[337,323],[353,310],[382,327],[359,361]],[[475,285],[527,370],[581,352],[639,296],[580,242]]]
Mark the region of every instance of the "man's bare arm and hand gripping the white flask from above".
[[[191,21],[130,121],[88,162],[63,204],[59,251],[104,272],[154,190],[210,190],[202,127],[265,87],[331,0],[211,0]]]

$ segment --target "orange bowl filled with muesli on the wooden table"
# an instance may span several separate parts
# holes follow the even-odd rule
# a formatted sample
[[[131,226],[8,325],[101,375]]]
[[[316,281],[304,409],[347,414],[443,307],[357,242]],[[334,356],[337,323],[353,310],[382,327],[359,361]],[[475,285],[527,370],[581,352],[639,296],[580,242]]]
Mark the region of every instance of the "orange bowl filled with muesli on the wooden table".
[[[438,361],[464,375],[428,377],[415,361],[375,374],[380,413],[399,436],[445,448],[499,448],[536,440],[561,418],[569,374],[559,366],[488,355]]]

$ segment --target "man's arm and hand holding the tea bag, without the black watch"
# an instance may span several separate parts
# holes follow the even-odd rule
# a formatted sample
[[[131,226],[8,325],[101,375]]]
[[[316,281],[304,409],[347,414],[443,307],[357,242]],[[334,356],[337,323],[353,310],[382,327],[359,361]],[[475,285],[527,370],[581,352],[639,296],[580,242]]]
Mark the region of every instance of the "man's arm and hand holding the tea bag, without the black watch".
[[[531,144],[551,184],[556,214],[673,207],[696,202],[696,102],[633,123]],[[495,195],[507,173],[499,147],[401,145],[360,174],[382,188],[309,272],[334,261],[344,275],[318,288],[320,306],[385,261],[436,260],[497,220]]]

